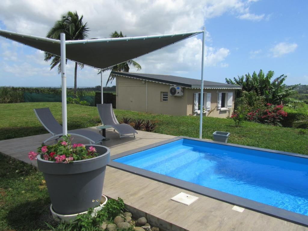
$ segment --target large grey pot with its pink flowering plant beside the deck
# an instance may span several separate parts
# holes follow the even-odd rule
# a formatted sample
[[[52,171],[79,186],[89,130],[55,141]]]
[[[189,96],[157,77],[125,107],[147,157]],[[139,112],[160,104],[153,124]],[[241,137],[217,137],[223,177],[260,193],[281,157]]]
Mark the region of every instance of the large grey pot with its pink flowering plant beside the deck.
[[[101,199],[110,149],[100,145],[73,144],[70,135],[56,144],[29,152],[43,172],[52,209],[62,215],[87,211]],[[93,202],[94,201],[94,202]]]

